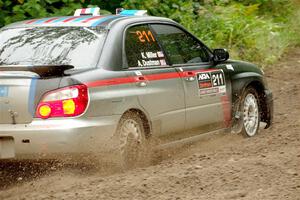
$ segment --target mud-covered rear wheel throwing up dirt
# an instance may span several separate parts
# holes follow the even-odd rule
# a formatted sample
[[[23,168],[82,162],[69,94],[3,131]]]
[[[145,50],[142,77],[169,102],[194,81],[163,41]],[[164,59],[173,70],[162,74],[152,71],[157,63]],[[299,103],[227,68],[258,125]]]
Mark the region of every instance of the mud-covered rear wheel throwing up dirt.
[[[147,164],[150,149],[145,130],[145,122],[138,112],[127,112],[122,116],[117,129],[117,137],[120,164],[123,169]]]

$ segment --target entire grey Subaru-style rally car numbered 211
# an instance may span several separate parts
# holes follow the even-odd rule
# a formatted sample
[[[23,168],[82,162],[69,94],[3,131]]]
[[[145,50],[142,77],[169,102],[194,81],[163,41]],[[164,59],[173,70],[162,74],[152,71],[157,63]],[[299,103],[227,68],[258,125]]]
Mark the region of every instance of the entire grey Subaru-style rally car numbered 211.
[[[0,30],[0,159],[114,152],[270,127],[263,71],[143,10],[14,23]],[[0,160],[1,161],[1,160]]]

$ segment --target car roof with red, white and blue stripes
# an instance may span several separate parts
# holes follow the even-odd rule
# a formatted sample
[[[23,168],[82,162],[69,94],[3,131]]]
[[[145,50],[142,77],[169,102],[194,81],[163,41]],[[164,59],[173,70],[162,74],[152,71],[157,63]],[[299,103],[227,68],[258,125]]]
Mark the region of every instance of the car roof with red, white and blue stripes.
[[[101,16],[61,16],[48,17],[42,19],[31,19],[12,23],[4,27],[7,28],[24,28],[24,27],[103,27],[110,28],[116,21],[129,20],[134,21],[160,21],[173,22],[171,19],[153,16],[122,16],[122,15],[101,15]]]

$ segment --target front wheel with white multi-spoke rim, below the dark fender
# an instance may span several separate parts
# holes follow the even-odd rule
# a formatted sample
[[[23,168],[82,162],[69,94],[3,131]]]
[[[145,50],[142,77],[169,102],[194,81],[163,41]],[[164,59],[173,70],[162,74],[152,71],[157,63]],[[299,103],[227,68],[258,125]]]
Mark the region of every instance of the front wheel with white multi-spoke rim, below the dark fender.
[[[259,131],[260,104],[259,95],[253,87],[247,87],[241,98],[241,133],[246,137],[253,137]]]

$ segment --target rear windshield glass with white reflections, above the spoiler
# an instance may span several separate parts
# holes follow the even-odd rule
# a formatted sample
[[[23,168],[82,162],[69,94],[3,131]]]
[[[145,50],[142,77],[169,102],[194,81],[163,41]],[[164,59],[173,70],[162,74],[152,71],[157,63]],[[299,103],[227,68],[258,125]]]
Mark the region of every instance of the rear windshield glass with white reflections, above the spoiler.
[[[97,64],[106,30],[97,27],[34,27],[0,31],[0,65]]]

